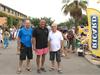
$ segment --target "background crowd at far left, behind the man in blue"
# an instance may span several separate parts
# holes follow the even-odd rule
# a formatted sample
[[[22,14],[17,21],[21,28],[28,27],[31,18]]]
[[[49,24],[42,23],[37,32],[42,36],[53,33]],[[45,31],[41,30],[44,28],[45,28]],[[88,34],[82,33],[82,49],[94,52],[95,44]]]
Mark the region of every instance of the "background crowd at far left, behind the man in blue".
[[[15,40],[17,37],[17,29],[12,28],[0,28],[0,48],[8,48],[9,43]]]

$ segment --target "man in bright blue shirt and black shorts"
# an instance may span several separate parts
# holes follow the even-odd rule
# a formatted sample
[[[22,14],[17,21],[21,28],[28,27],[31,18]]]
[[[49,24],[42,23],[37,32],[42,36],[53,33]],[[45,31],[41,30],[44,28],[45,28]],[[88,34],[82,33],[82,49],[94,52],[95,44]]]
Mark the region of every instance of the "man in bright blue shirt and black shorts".
[[[18,53],[20,55],[18,73],[21,73],[21,68],[23,61],[27,57],[27,68],[26,70],[30,71],[30,60],[33,58],[32,54],[32,33],[33,29],[31,28],[30,20],[25,20],[25,27],[21,28],[18,34]]]

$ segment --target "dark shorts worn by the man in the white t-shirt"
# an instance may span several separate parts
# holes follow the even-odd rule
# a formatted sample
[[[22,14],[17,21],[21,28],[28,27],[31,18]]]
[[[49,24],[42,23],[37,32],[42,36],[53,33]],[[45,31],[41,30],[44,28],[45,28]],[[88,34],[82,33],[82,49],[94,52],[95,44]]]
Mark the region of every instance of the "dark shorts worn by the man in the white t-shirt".
[[[61,55],[60,50],[56,52],[50,52],[50,61],[54,61],[56,58],[57,62],[61,62]]]

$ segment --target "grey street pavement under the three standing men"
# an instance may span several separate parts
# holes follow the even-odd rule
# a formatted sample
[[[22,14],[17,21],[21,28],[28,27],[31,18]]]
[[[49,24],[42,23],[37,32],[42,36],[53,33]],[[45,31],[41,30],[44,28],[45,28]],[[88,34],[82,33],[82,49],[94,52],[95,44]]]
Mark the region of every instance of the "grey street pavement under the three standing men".
[[[25,64],[23,72],[20,75],[39,75],[36,72],[36,55],[32,60],[32,72],[27,72]],[[100,75],[100,68],[88,62],[84,57],[78,57],[77,54],[71,54],[70,59],[62,57],[61,75]],[[10,43],[7,49],[0,48],[0,75],[18,75],[16,73],[18,66],[18,55],[16,54],[16,41]],[[59,75],[57,71],[49,71],[49,55],[46,56],[45,68],[47,72],[41,75]]]

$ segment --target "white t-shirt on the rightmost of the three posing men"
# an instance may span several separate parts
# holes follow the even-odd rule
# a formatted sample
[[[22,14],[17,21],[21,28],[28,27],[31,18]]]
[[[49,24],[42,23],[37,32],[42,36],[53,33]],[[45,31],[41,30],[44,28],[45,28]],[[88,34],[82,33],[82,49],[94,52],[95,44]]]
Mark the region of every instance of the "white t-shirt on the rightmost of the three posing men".
[[[62,33],[58,30],[55,33],[50,31],[48,40],[50,41],[51,51],[58,51],[61,48],[61,40],[63,40]]]

